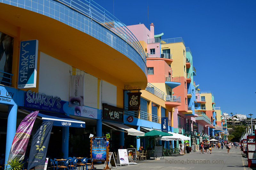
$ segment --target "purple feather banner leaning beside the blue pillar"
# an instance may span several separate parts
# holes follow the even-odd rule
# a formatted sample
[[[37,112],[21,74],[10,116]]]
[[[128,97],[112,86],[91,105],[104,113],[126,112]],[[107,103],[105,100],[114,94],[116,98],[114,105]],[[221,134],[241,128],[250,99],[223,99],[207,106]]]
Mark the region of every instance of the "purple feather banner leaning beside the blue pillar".
[[[12,147],[9,153],[8,161],[19,159],[22,161],[28,146],[28,140],[39,111],[35,111],[27,115],[20,123],[12,141]]]

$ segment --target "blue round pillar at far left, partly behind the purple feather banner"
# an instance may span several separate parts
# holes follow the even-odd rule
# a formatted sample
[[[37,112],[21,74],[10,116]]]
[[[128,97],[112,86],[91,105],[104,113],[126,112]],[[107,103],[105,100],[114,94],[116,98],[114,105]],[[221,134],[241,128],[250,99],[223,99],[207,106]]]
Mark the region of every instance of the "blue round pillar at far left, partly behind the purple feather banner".
[[[9,153],[12,147],[12,141],[16,133],[17,123],[17,105],[8,106],[8,118],[7,118],[7,131],[6,131],[6,146],[5,146],[5,162],[7,164]]]

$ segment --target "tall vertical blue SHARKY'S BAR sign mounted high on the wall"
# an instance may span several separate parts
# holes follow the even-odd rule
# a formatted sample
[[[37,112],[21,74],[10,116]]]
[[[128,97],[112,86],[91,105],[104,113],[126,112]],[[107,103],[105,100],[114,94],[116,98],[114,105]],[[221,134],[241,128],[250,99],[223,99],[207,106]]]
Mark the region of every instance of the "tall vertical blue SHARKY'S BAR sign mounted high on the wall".
[[[38,40],[20,41],[18,88],[36,87]]]

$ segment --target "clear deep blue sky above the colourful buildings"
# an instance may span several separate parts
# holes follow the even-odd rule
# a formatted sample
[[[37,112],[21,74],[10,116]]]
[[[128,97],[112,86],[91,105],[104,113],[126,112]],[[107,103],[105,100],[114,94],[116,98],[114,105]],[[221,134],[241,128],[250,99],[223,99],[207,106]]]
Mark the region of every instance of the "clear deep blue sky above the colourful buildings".
[[[222,112],[256,118],[255,0],[95,2],[126,25],[148,27],[149,20],[155,34],[164,33],[162,39],[182,37],[192,52],[194,81],[201,91],[211,91]]]

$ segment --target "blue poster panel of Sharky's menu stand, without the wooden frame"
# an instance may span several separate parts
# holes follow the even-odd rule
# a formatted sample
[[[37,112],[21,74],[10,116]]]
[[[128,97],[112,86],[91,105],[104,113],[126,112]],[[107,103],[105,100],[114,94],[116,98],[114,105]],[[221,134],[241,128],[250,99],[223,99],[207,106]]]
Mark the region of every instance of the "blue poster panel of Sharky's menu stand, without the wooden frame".
[[[107,160],[106,137],[92,137],[92,158],[94,160]]]

